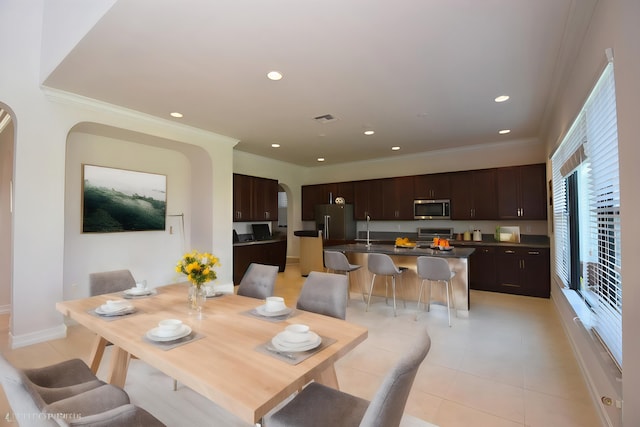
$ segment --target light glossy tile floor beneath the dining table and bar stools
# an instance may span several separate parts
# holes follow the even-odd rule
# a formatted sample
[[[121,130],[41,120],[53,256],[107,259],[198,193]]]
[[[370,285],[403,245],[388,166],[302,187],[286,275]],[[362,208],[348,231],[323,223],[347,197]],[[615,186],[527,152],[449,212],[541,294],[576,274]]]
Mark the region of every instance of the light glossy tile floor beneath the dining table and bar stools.
[[[303,282],[298,265],[287,265],[276,295],[293,306]],[[360,294],[352,293],[347,320],[367,326],[369,338],[336,369],[342,390],[370,399],[411,345],[418,323],[426,323],[431,351],[409,396],[404,427],[601,426],[552,301],[472,291],[469,318],[452,318],[451,328],[441,305],[431,312],[418,311],[415,302],[399,307],[393,317],[384,299],[374,297],[365,312]],[[24,367],[86,358],[91,341],[89,332],[74,326],[67,339],[10,350],[7,332],[8,316],[0,316],[0,350]],[[132,361],[125,389],[167,425],[243,425],[188,388],[171,387],[170,378]],[[9,410],[0,396],[0,414]]]

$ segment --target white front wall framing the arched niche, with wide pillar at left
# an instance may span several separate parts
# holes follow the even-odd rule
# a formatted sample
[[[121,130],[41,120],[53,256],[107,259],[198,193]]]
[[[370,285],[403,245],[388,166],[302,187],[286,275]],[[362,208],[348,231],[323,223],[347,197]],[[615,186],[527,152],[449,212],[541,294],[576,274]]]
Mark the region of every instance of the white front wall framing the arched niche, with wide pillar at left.
[[[98,123],[145,135],[154,140],[152,144],[159,141],[158,146],[173,143],[171,149],[190,159],[191,180],[197,183],[189,189],[194,224],[191,244],[200,246],[204,242],[207,247],[202,250],[221,258],[219,281],[232,282],[232,154],[237,141],[107,104],[43,91],[39,85],[42,9],[42,1],[0,3],[0,51],[11,58],[0,67],[0,102],[11,108],[16,119],[13,347],[65,334],[55,302],[64,298],[67,261],[67,138],[79,123]],[[194,154],[189,148],[194,146],[205,155]],[[127,156],[126,152],[118,154]],[[129,244],[124,242],[123,250]]]

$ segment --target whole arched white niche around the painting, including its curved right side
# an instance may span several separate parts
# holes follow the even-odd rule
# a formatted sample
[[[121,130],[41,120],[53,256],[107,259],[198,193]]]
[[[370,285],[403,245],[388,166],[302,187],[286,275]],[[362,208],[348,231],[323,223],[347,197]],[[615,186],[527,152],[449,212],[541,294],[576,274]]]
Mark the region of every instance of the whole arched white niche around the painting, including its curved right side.
[[[105,166],[165,175],[167,222],[162,231],[82,233],[82,167]],[[129,269],[136,280],[162,285],[191,249],[212,247],[212,162],[200,147],[99,123],[68,133],[65,156],[65,299],[89,295],[89,273]]]

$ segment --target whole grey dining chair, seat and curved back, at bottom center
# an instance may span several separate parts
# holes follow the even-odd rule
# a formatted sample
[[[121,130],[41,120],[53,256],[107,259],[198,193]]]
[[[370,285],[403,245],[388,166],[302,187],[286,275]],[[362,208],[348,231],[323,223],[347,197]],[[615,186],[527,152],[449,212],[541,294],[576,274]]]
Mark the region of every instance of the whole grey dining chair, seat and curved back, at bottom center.
[[[426,328],[387,373],[371,401],[312,382],[265,417],[267,427],[398,427],[420,364],[431,348]]]

